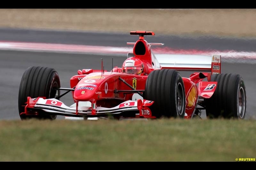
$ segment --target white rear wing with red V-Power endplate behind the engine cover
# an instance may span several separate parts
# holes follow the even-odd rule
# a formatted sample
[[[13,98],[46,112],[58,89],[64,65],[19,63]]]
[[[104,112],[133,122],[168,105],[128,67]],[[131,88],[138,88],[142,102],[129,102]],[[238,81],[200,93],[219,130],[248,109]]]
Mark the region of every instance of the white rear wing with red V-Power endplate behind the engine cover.
[[[163,69],[180,71],[208,71],[220,74],[220,55],[154,54]]]

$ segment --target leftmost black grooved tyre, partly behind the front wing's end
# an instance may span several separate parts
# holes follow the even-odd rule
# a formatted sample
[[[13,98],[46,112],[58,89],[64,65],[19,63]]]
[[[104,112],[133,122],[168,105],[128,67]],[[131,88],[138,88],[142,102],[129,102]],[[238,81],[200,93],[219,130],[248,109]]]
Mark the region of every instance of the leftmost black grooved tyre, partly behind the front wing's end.
[[[60,88],[60,78],[56,70],[49,67],[31,66],[24,73],[20,82],[19,90],[19,113],[25,111],[27,97],[54,98]],[[20,115],[19,114],[19,115]],[[20,115],[20,119],[56,119],[57,115]]]

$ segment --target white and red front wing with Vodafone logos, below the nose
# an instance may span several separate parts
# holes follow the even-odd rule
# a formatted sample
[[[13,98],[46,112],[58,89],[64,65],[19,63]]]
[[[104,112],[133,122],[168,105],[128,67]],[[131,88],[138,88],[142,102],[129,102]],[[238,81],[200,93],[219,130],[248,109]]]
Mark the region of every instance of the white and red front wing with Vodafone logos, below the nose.
[[[90,103],[90,102],[89,102]],[[72,117],[106,117],[110,115],[139,115],[143,118],[156,118],[152,116],[151,106],[154,101],[140,100],[137,101],[127,100],[120,103],[116,107],[97,107],[92,111],[92,106],[88,105],[86,101],[77,101],[70,107],[66,106],[63,102],[57,99],[45,99],[44,97],[33,98],[28,97],[25,115],[63,115]],[[96,114],[95,114],[96,113]]]

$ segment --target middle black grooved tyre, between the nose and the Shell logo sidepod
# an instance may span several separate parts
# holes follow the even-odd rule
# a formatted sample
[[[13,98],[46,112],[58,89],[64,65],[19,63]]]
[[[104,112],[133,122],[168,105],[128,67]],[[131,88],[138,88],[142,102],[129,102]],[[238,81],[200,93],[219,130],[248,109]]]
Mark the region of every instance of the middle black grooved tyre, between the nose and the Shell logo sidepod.
[[[180,73],[172,69],[153,70],[147,78],[144,99],[152,100],[152,116],[184,118],[185,89]]]

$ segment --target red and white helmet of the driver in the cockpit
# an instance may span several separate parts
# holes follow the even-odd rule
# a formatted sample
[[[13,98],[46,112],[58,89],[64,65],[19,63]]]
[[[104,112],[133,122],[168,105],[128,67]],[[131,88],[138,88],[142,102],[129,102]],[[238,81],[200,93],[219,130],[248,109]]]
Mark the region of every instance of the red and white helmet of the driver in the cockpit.
[[[137,74],[140,75],[143,73],[143,63],[142,61],[137,57],[130,57],[127,58],[122,66],[122,70],[124,73],[131,73],[131,74]]]

